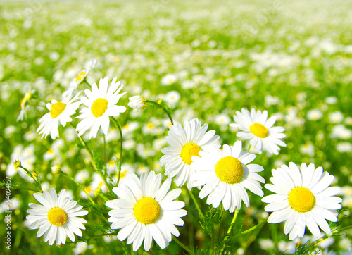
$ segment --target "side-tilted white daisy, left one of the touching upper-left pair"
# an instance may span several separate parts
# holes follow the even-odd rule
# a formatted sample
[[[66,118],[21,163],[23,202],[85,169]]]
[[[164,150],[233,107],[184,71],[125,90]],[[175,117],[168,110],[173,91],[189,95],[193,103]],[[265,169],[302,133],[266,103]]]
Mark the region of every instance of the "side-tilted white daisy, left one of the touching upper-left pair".
[[[37,132],[43,137],[47,137],[49,134],[51,139],[58,137],[58,123],[65,127],[66,123],[71,122],[71,115],[76,113],[78,107],[80,107],[81,102],[76,101],[80,96],[80,93],[76,94],[72,99],[70,97],[65,97],[63,101],[51,100],[51,103],[46,104],[46,108],[49,113],[46,113],[39,120],[39,128]]]

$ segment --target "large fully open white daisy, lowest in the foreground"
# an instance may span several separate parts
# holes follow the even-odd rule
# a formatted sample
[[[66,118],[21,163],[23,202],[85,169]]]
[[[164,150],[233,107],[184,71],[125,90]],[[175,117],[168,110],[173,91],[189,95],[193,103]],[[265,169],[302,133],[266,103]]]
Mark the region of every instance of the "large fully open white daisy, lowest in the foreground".
[[[144,240],[144,249],[149,251],[152,239],[161,249],[165,249],[171,241],[172,235],[178,237],[180,232],[175,225],[184,225],[181,217],[187,212],[183,210],[184,202],[173,201],[181,194],[181,189],[168,192],[171,179],[165,180],[161,185],[161,174],[152,171],[148,176],[142,174],[139,179],[132,173],[122,180],[119,187],[113,192],[119,199],[106,202],[112,208],[108,221],[111,229],[119,229],[118,240],[127,237],[127,244],[133,242],[133,251],[141,247]]]

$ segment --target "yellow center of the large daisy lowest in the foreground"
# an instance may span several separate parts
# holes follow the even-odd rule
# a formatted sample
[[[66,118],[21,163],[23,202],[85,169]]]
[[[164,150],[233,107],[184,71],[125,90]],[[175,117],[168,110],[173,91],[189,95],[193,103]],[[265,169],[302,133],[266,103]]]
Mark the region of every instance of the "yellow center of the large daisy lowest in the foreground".
[[[155,199],[144,197],[134,205],[134,216],[140,223],[151,224],[160,216],[160,206]]]

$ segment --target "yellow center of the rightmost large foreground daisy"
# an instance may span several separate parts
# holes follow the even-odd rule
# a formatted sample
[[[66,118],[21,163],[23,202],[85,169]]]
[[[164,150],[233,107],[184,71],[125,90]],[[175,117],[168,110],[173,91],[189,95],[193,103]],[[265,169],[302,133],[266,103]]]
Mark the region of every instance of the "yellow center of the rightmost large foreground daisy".
[[[315,206],[315,197],[305,187],[295,187],[289,192],[289,205],[298,213],[306,213]]]

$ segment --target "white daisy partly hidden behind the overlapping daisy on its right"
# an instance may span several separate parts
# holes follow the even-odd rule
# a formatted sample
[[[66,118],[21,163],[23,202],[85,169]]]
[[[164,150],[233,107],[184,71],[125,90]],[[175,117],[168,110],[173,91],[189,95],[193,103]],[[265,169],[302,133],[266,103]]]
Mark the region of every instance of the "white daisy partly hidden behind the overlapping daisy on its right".
[[[180,123],[175,123],[170,127],[166,140],[171,147],[161,149],[165,154],[161,157],[161,163],[165,163],[165,175],[173,178],[177,186],[184,185],[190,190],[191,175],[194,170],[191,168],[192,156],[199,156],[199,151],[218,149],[220,144],[216,144],[220,138],[215,135],[214,130],[206,132],[208,124],[201,125],[201,122],[194,118],[191,121],[184,121],[184,127]]]

